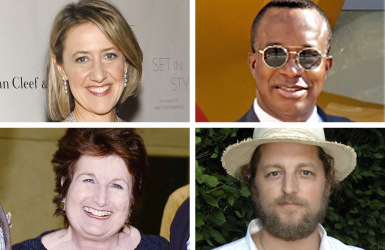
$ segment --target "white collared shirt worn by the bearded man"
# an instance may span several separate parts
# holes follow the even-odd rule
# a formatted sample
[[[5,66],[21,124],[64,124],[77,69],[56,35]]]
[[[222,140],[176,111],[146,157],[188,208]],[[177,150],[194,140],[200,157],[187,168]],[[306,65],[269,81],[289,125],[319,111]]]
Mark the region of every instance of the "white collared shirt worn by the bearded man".
[[[224,244],[213,250],[258,250],[256,248],[254,241],[251,238],[251,235],[260,231],[262,229],[259,219],[253,219],[248,224],[246,236],[235,240],[231,243]],[[319,250],[363,250],[362,248],[345,245],[336,238],[327,236],[325,229],[321,224],[318,224],[318,232],[321,237],[321,243],[319,245]]]

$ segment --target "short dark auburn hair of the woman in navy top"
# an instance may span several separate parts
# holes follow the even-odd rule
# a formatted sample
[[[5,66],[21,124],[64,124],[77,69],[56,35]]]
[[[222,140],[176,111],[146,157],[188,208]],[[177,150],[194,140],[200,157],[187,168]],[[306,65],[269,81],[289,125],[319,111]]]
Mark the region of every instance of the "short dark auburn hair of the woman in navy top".
[[[60,203],[67,195],[77,161],[82,155],[115,155],[122,158],[128,172],[132,175],[131,210],[141,205],[143,182],[148,172],[148,156],[143,140],[136,129],[68,128],[59,140],[58,146],[51,160],[56,174],[55,192],[58,193],[53,202],[56,204],[55,215],[63,215],[65,225],[68,225],[68,219]],[[64,182],[61,185],[62,178]]]

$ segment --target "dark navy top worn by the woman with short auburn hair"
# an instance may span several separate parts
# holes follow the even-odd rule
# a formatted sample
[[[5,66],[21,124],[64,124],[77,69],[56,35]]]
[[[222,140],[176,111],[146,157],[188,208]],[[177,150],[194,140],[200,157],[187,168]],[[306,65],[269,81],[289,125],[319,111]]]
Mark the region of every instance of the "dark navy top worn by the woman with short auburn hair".
[[[41,238],[53,231],[43,232],[40,236],[33,239],[25,240],[24,242],[15,244],[12,246],[12,250],[47,250]],[[140,232],[140,242],[136,246],[135,250],[168,250],[169,242],[167,239],[156,236],[156,235],[146,235]]]

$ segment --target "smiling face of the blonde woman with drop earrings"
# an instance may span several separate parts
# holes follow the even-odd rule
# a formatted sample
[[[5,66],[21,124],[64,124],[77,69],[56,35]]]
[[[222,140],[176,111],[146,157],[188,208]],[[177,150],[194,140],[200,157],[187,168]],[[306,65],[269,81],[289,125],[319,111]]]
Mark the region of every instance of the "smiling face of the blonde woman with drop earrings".
[[[68,79],[77,110],[102,115],[114,109],[128,64],[96,24],[86,22],[68,29],[62,58],[57,69]]]

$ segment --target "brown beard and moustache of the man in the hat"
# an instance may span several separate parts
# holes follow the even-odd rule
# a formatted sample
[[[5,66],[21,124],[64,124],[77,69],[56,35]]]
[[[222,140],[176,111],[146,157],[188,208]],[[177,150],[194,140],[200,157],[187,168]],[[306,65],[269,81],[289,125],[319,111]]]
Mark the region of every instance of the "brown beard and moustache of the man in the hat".
[[[284,194],[268,204],[266,211],[264,211],[255,184],[251,186],[251,193],[255,204],[256,214],[260,219],[263,229],[266,229],[272,236],[286,241],[302,239],[314,232],[318,223],[322,222],[325,217],[329,198],[329,192],[326,186],[319,207],[311,207],[306,200],[298,198],[295,195]],[[305,206],[307,210],[296,221],[289,220],[294,216],[297,210],[288,211],[286,213],[287,220],[283,221],[283,219],[279,217],[279,214],[274,211],[274,207],[278,204],[287,202],[300,204]]]

